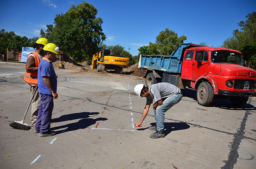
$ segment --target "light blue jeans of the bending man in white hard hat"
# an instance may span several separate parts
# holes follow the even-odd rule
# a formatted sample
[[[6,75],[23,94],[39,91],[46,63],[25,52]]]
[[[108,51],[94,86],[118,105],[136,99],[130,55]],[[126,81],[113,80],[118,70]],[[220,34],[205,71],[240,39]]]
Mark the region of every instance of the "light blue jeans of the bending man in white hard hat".
[[[157,123],[157,131],[160,132],[165,128],[165,112],[168,111],[172,106],[176,105],[182,99],[182,94],[174,94],[167,97],[163,101],[163,105],[158,106],[156,111],[154,110],[155,121]],[[155,104],[155,103],[154,103]]]

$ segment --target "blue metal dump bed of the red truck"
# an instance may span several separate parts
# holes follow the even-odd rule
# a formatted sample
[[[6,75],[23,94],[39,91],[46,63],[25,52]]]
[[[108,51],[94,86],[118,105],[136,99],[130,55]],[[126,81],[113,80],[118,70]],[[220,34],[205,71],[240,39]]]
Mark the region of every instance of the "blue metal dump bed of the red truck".
[[[140,55],[139,68],[162,70],[165,72],[181,73],[184,50],[187,48],[198,47],[191,43],[181,43],[172,52],[171,56],[163,55]]]

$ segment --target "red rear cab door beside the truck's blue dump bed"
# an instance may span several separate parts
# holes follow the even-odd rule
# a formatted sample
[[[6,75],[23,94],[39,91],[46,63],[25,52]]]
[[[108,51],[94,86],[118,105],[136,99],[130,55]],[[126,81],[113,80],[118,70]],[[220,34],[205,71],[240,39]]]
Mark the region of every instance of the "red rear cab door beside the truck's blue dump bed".
[[[194,51],[186,51],[181,69],[181,78],[191,80],[192,59]]]

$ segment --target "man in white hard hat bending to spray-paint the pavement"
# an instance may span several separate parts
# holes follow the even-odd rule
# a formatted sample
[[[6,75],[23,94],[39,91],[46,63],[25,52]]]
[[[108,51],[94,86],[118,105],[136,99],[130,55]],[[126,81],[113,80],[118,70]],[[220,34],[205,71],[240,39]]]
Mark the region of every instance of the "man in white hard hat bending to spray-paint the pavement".
[[[146,97],[146,106],[143,110],[142,118],[138,123],[134,123],[134,125],[140,126],[142,124],[148,114],[150,105],[153,103],[153,99],[155,99],[153,110],[156,123],[155,126],[149,127],[149,130],[155,130],[156,132],[149,137],[152,139],[164,137],[165,112],[180,102],[183,96],[182,92],[175,85],[165,82],[153,84],[149,87],[138,84],[134,87],[134,92],[139,97]]]

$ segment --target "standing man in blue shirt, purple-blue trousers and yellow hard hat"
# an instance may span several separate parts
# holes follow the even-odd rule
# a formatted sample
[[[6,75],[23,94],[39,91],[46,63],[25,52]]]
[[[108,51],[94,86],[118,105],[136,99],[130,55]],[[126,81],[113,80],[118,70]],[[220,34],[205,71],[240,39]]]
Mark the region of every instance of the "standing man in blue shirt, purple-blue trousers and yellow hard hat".
[[[38,67],[38,92],[40,93],[40,108],[35,123],[35,133],[40,132],[40,137],[53,136],[55,132],[50,131],[52,118],[53,99],[58,98],[57,78],[52,65],[53,59],[59,52],[59,48],[53,43],[47,43],[43,50],[45,56]]]

